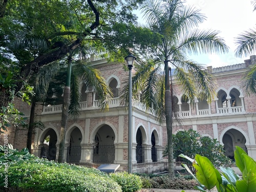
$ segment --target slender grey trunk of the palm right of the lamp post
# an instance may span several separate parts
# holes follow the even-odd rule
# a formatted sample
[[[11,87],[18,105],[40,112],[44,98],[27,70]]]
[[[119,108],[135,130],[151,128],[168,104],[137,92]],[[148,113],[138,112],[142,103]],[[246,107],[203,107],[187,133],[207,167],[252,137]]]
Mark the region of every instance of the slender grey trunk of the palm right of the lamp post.
[[[172,116],[172,94],[170,93],[168,61],[164,61],[165,70],[165,119],[167,130],[167,153],[169,177],[174,178],[174,153],[173,153],[173,116]]]

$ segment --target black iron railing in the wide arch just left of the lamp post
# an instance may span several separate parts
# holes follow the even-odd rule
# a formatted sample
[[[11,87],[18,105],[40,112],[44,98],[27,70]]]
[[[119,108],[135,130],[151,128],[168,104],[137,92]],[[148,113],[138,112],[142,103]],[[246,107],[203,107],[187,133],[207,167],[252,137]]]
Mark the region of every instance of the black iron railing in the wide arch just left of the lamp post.
[[[93,151],[93,162],[113,163],[115,160],[115,145],[97,145]]]

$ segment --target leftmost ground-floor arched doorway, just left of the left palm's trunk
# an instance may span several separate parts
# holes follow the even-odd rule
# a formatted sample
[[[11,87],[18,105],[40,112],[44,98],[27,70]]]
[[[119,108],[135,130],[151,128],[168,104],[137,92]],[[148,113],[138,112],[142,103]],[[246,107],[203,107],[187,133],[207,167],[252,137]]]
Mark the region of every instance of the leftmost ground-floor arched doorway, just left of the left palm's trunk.
[[[57,134],[51,128],[46,130],[46,134],[42,135],[40,139],[41,143],[44,144],[41,148],[40,158],[47,158],[49,160],[56,159],[56,143],[57,143]]]

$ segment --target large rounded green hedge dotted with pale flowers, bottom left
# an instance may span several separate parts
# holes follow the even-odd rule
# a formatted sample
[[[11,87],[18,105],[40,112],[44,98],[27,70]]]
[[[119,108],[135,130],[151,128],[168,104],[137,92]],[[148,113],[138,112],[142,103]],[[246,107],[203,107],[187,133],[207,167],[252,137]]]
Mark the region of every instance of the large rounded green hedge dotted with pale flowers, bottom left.
[[[5,164],[0,164],[2,181],[5,179],[5,167]],[[4,186],[4,182],[1,182],[0,190],[4,190]],[[8,187],[20,192],[121,192],[121,187],[109,175],[95,168],[56,163],[38,158],[8,162]]]

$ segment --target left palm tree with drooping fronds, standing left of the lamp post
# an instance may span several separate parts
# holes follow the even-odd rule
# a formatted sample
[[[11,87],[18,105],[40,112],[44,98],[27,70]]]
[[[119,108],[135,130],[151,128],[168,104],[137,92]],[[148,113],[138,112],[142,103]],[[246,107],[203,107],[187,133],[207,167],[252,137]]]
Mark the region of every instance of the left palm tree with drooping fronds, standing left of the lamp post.
[[[79,117],[80,113],[80,90],[79,80],[86,84],[87,89],[94,89],[99,95],[100,109],[108,110],[108,102],[112,98],[112,92],[106,84],[100,72],[90,66],[90,63],[76,61],[72,63],[72,55],[68,57],[68,70],[66,86],[63,93],[63,104],[61,113],[60,143],[58,162],[64,162],[65,135],[68,116],[71,112],[73,117]],[[72,105],[70,105],[72,103]]]

